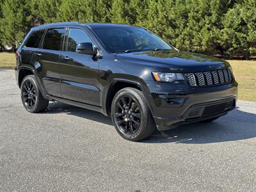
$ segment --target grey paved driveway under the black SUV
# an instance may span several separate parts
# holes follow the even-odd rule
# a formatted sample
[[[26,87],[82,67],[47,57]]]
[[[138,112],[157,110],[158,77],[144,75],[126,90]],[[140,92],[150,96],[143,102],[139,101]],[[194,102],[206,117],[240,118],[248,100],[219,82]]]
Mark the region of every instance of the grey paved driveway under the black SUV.
[[[0,70],[0,191],[256,190],[256,103],[133,143],[100,113],[58,102],[28,113]]]

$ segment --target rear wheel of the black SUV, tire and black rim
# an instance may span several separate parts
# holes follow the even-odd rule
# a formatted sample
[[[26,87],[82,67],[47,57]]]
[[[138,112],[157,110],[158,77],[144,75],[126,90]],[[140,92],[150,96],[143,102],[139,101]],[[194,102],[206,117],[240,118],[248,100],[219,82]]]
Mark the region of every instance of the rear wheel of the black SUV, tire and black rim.
[[[41,94],[35,76],[29,75],[24,77],[20,85],[20,97],[24,108],[30,113],[44,111],[49,100],[44,99]]]

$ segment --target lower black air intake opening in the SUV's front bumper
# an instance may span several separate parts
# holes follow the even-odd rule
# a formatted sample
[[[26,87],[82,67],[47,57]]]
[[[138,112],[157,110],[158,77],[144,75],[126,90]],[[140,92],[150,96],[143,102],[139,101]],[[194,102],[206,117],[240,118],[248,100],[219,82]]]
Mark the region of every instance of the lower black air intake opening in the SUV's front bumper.
[[[204,108],[204,112],[202,116],[214,115],[218,113],[222,113],[224,111],[228,111],[234,106],[234,100],[230,100],[228,102],[223,102],[220,104],[215,104],[212,106],[206,106]]]

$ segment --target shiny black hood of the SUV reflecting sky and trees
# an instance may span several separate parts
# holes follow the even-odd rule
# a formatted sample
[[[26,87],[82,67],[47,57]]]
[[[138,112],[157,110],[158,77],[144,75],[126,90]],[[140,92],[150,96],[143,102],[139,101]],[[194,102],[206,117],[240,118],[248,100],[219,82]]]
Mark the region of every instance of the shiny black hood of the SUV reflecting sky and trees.
[[[145,51],[116,54],[117,60],[150,65],[159,71],[196,72],[229,67],[227,61],[184,51]]]

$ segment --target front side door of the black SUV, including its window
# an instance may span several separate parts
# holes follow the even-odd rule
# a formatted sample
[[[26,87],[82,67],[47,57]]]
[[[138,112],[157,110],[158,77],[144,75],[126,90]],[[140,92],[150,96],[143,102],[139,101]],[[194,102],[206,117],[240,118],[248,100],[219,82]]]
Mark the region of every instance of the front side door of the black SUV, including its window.
[[[61,53],[61,93],[65,99],[99,106],[99,60],[76,52],[79,43],[92,42],[83,30],[70,28]]]

